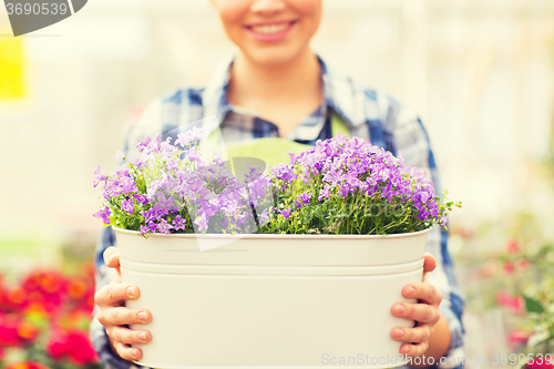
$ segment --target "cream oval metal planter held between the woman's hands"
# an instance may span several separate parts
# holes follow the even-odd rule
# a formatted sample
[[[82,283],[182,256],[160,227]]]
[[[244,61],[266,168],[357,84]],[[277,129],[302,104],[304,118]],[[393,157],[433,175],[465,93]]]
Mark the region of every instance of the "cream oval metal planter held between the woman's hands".
[[[153,368],[325,368],[406,363],[394,317],[422,280],[429,229],[390,236],[150,235],[114,228],[127,307],[152,312]],[[227,243],[201,252],[202,243]],[[228,243],[228,238],[236,240]]]

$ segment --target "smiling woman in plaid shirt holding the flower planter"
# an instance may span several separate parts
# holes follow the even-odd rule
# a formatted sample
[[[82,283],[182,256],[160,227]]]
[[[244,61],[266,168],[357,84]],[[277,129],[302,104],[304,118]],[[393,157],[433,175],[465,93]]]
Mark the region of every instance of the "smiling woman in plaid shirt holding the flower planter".
[[[406,162],[428,171],[438,183],[429,140],[418,116],[381,92],[337,76],[310,50],[309,42],[321,19],[321,0],[212,3],[238,52],[223,63],[205,89],[176,90],[153,102],[127,136],[130,155],[134,143],[145,134],[168,135],[199,125],[208,134],[220,133],[225,143],[283,137],[302,144],[328,139],[339,126],[393,154],[401,151]],[[424,355],[433,362],[442,358],[447,362],[439,368],[462,368],[444,360],[463,357],[464,335],[464,300],[447,237],[439,228],[430,233],[423,281],[402,289],[418,304],[397,303],[391,307],[391,314],[416,320],[416,327],[394,327],[390,334],[404,342],[402,355]],[[124,301],[136,298],[140,291],[121,283],[116,248],[107,247],[114,244],[114,234],[107,227],[96,249],[98,307],[91,339],[106,368],[130,368],[130,360],[142,355],[130,345],[147,342],[152,337],[147,330],[131,330],[125,325],[148,322],[152,315],[124,307]],[[427,275],[429,271],[433,273]],[[413,367],[428,367],[429,362]]]

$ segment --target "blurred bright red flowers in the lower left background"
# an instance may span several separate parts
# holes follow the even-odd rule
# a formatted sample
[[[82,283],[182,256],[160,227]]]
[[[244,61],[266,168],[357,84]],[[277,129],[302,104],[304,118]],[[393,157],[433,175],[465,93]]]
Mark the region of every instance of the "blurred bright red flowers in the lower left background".
[[[0,275],[0,368],[99,368],[88,330],[94,306],[92,263],[82,270],[74,276],[35,270],[17,286]],[[4,362],[9,357],[29,361]]]

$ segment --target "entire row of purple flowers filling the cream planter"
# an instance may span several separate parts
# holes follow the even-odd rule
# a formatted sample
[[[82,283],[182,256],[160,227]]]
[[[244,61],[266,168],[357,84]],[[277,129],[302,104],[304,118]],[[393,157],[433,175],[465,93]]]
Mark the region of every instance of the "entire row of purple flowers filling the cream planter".
[[[114,175],[95,172],[104,224],[150,233],[393,234],[440,224],[447,211],[424,173],[369,142],[319,141],[270,172],[255,160],[203,157],[202,131],[145,136]],[[237,180],[238,178],[238,180]]]

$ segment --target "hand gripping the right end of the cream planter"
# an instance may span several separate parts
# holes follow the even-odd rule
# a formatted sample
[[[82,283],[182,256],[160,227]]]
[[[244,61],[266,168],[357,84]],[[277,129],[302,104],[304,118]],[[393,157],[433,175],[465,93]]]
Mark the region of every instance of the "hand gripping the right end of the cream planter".
[[[397,303],[392,306],[391,312],[396,317],[416,320],[413,328],[397,326],[390,332],[396,340],[407,342],[400,347],[400,353],[403,356],[418,357],[427,351],[434,325],[441,317],[439,304],[442,301],[442,293],[425,278],[425,274],[433,271],[435,267],[434,256],[425,254],[423,281],[408,284],[402,289],[403,296],[418,299],[418,304]]]

